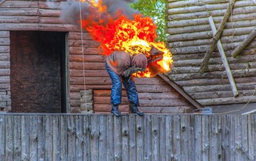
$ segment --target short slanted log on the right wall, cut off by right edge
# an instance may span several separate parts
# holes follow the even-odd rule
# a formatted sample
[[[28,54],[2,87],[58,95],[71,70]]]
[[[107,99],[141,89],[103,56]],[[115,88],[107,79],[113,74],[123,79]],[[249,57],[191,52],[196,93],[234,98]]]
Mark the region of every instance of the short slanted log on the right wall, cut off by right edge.
[[[238,54],[256,37],[256,28],[247,36],[247,38],[238,45],[231,53],[233,58],[236,58]]]

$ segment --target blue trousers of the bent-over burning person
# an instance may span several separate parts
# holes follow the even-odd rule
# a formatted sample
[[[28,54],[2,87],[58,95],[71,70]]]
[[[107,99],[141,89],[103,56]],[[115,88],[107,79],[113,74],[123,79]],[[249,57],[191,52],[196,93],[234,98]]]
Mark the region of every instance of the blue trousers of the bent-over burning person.
[[[122,101],[122,82],[125,87],[127,97],[130,103],[133,103],[135,106],[139,106],[139,97],[137,94],[137,89],[135,83],[131,76],[125,78],[125,76],[119,76],[111,68],[109,68],[106,63],[106,70],[112,80],[112,91],[111,91],[111,103],[113,105],[120,105]]]

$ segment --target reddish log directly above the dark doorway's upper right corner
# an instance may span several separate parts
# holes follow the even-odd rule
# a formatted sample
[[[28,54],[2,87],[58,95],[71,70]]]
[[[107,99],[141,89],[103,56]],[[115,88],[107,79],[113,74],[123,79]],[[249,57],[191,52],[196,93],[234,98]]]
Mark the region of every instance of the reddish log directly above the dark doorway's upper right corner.
[[[47,31],[47,32],[70,32],[70,31],[78,31],[76,25],[70,24],[47,24],[47,23],[39,23],[38,25],[39,31]]]

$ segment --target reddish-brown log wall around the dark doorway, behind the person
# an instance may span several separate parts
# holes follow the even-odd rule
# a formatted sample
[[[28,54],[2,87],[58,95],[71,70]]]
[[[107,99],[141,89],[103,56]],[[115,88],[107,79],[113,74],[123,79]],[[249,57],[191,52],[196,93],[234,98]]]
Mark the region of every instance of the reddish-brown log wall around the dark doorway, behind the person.
[[[82,40],[79,27],[65,24],[60,18],[61,1],[52,2],[48,6],[46,1],[9,1],[0,4],[0,96],[3,106],[11,111],[9,85],[9,31],[34,30],[67,32],[67,73],[68,90],[67,112],[82,113],[80,91],[92,89],[94,94],[94,111],[109,113],[111,80],[106,72],[104,56],[98,54],[98,43],[94,42],[87,32],[83,32],[84,63],[82,55]],[[2,60],[3,59],[3,60]],[[85,69],[85,76],[84,76]],[[5,71],[7,70],[7,71]],[[3,71],[3,74],[2,74]],[[162,78],[135,78],[141,109],[146,113],[183,113],[184,109],[194,109],[182,95],[175,91]],[[125,95],[125,92],[123,92]],[[1,101],[1,99],[0,99]],[[1,104],[1,103],[0,103]],[[123,112],[127,112],[127,99],[123,98],[121,105]]]

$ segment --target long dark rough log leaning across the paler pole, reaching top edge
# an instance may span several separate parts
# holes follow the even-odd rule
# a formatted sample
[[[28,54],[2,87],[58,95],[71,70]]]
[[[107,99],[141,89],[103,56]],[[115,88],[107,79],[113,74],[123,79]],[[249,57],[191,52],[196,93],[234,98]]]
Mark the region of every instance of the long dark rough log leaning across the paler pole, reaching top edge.
[[[218,28],[218,31],[216,32],[216,34],[214,34],[214,38],[212,38],[211,45],[207,49],[207,52],[205,53],[205,56],[203,58],[203,62],[201,63],[200,70],[199,70],[199,72],[201,72],[201,73],[203,73],[203,72],[205,72],[205,70],[207,70],[207,64],[212,56],[212,52],[214,52],[214,49],[216,48],[216,43],[220,39],[220,36],[222,34],[224,26],[226,25],[226,21],[228,21],[228,18],[230,16],[230,13],[232,11],[235,1],[236,0],[230,0],[230,3],[228,4],[228,8],[226,9],[226,13],[220,23],[220,27]]]

